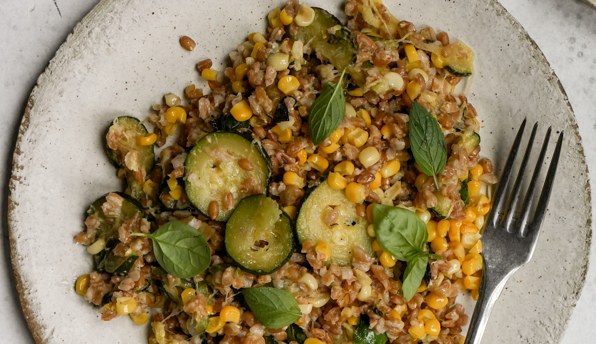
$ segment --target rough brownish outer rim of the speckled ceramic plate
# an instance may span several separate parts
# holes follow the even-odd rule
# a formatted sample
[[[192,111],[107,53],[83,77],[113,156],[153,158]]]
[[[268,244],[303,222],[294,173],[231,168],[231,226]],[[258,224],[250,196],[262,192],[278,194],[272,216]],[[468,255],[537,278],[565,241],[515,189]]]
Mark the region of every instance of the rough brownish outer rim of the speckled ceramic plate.
[[[100,2],[98,2],[97,5],[95,5],[91,9],[91,11],[89,11],[89,13],[85,14],[85,16],[75,24],[72,32],[70,32],[69,35],[66,36],[66,39],[60,45],[60,47],[58,47],[57,51],[55,52],[55,54],[51,58],[51,60],[48,61],[48,66],[46,66],[45,70],[38,76],[38,79],[36,80],[36,84],[35,84],[35,86],[33,86],[33,89],[29,94],[29,98],[27,98],[27,106],[25,107],[25,110],[23,113],[23,118],[21,119],[21,123],[18,127],[18,135],[17,135],[17,139],[14,144],[13,161],[11,163],[11,165],[12,165],[11,178],[10,178],[10,181],[8,182],[8,197],[7,197],[8,241],[9,241],[9,245],[10,245],[11,265],[12,265],[14,277],[15,277],[15,287],[17,289],[18,298],[20,301],[20,305],[21,305],[21,309],[23,311],[24,318],[27,322],[27,326],[29,327],[29,330],[33,336],[33,340],[35,340],[36,344],[45,344],[45,343],[47,343],[47,339],[44,337],[44,333],[43,333],[44,326],[39,324],[38,320],[36,319],[35,312],[33,312],[33,309],[30,308],[29,300],[27,300],[27,298],[24,295],[27,289],[24,287],[23,277],[21,276],[21,272],[18,269],[18,264],[17,264],[18,255],[17,255],[16,240],[15,240],[15,228],[14,228],[14,221],[12,220],[13,213],[15,212],[15,208],[18,205],[18,203],[15,203],[13,200],[13,191],[15,190],[15,183],[18,182],[14,178],[15,170],[18,169],[17,164],[16,164],[16,159],[21,154],[21,150],[20,150],[21,140],[23,139],[24,134],[26,134],[27,130],[29,129],[29,123],[30,123],[29,111],[33,108],[33,106],[35,106],[33,97],[35,96],[35,93],[39,88],[39,82],[41,80],[41,77],[44,76],[46,73],[51,72],[52,62],[54,62],[57,59],[58,55],[64,48],[64,45],[67,44],[67,42],[70,39],[72,39],[73,36],[80,35],[82,33],[82,31],[83,31],[82,23],[86,20],[89,20],[89,18],[94,17],[95,14],[97,14],[97,12],[101,10],[101,8],[103,8],[106,5],[109,5],[109,3],[111,1],[113,1],[113,0],[101,0]],[[558,76],[556,75],[554,70],[552,70],[551,64],[548,62],[548,60],[545,57],[542,50],[538,47],[538,44],[536,44],[536,42],[532,39],[532,37],[530,37],[529,33],[527,33],[526,29],[524,29],[522,24],[519,23],[519,21],[517,21],[517,19],[511,13],[509,13],[509,11],[505,7],[503,7],[503,5],[501,5],[501,3],[498,0],[485,0],[485,1],[486,1],[486,4],[489,6],[492,6],[496,12],[500,12],[502,14],[502,16],[505,18],[505,20],[507,20],[509,22],[509,24],[511,24],[511,26],[514,27],[514,29],[519,30],[519,32],[524,36],[524,38],[527,41],[529,41],[530,46],[532,47],[531,49],[534,52],[538,52],[538,59],[544,61],[547,64],[548,69],[550,70],[551,75],[554,77],[554,81],[556,82],[559,90],[563,94],[564,101],[567,104],[567,107],[569,108],[570,113],[572,114],[573,123],[571,123],[570,129],[572,129],[573,135],[575,135],[575,137],[578,140],[579,147],[580,147],[580,149],[578,151],[579,157],[581,158],[582,162],[586,166],[586,170],[585,170],[586,179],[587,179],[586,198],[588,199],[588,207],[589,207],[588,218],[586,219],[586,227],[589,228],[589,231],[587,233],[585,247],[583,247],[583,251],[586,253],[586,255],[585,255],[586,259],[585,259],[583,266],[581,266],[581,269],[583,270],[582,278],[575,285],[576,289],[573,290],[572,293],[570,293],[570,296],[573,298],[573,300],[572,300],[573,305],[570,307],[570,309],[571,309],[570,317],[566,319],[566,323],[564,324],[563,331],[560,332],[558,337],[555,337],[555,339],[561,340],[564,336],[564,333],[567,330],[567,327],[569,327],[569,321],[571,320],[571,317],[573,315],[573,309],[575,309],[577,301],[579,300],[579,297],[581,296],[583,287],[585,286],[585,283],[586,283],[586,272],[588,271],[588,266],[589,266],[589,256],[590,256],[590,252],[591,252],[591,243],[592,243],[592,234],[593,234],[593,228],[592,228],[593,209],[592,209],[592,196],[591,196],[591,181],[589,178],[588,164],[586,163],[586,156],[585,156],[585,149],[583,146],[583,140],[582,140],[581,135],[579,134],[578,121],[576,120],[576,116],[575,116],[575,112],[573,111],[573,107],[569,102],[569,97],[567,97],[567,93],[565,92],[565,89],[563,88],[563,85],[561,84],[561,80],[558,78]],[[596,0],[583,0],[583,1],[586,2],[586,4],[588,4],[589,6],[596,9]]]

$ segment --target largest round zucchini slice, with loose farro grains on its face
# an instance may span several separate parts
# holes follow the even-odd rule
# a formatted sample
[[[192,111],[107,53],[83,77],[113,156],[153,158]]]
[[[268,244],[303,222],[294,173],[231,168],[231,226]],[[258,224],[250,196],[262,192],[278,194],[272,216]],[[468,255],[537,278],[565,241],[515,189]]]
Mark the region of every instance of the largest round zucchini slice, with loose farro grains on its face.
[[[240,168],[240,159],[248,159],[252,171]],[[250,141],[234,132],[205,135],[188,153],[184,163],[185,190],[188,200],[203,214],[209,203],[219,203],[216,221],[227,221],[241,199],[265,193],[271,178],[271,160],[259,141]],[[222,199],[232,193],[234,207],[224,209]]]

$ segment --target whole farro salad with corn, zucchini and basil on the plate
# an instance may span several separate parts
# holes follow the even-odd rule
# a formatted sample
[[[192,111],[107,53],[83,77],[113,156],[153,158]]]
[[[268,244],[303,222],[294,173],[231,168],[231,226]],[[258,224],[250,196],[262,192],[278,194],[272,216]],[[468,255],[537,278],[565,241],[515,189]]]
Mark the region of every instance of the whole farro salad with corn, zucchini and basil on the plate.
[[[380,0],[344,11],[289,0],[223,76],[198,63],[207,94],[166,94],[153,133],[114,119],[126,190],[75,237],[103,320],[150,323],[150,344],[463,343],[497,181],[456,91],[474,52]]]

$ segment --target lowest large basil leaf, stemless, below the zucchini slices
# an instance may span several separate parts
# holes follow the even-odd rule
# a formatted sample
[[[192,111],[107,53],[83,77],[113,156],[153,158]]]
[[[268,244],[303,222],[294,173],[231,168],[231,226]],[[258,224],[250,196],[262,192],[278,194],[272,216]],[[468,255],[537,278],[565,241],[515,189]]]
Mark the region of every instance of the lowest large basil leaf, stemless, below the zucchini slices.
[[[256,287],[243,289],[242,294],[254,317],[271,330],[288,326],[302,317],[296,298],[285,290]]]

